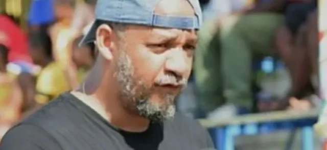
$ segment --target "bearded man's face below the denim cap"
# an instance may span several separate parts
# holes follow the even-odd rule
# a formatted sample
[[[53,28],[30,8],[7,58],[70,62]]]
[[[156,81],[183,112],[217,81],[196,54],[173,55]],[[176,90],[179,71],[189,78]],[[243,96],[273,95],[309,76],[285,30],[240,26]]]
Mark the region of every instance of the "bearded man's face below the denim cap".
[[[152,121],[171,118],[191,73],[195,31],[131,25],[124,37],[114,56],[124,106]]]

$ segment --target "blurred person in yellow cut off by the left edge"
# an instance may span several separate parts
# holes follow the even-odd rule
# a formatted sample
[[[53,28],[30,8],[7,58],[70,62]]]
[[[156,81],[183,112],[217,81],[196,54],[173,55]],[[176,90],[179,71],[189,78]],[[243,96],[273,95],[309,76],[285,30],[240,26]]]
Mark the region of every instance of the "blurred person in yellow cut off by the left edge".
[[[7,70],[9,49],[0,44],[0,138],[20,119],[22,92],[16,75]]]

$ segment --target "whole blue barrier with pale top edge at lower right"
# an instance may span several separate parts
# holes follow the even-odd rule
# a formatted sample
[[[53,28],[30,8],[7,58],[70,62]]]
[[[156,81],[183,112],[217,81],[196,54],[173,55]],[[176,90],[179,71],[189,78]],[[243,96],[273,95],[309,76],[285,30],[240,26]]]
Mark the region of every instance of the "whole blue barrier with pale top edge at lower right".
[[[275,131],[291,131],[295,133],[296,130],[301,131],[301,149],[302,150],[313,150],[314,149],[314,132],[313,125],[317,122],[317,113],[312,112],[310,115],[294,114],[290,113],[288,117],[287,113],[283,114],[285,116],[281,117],[283,112],[279,112],[278,115],[269,114],[256,114],[256,117],[260,116],[261,118],[250,117],[247,118],[238,117],[235,119],[240,119],[241,121],[230,121],[217,122],[212,121],[201,122],[202,125],[208,128],[209,133],[211,134],[216,148],[219,150],[233,150],[235,149],[235,137],[239,135],[255,135],[255,134],[267,134]],[[267,119],[263,116],[267,116]],[[255,121],[257,120],[258,121]],[[217,124],[217,126],[215,125]],[[291,134],[290,141],[287,142],[285,149],[290,149],[292,145],[292,138],[295,134]]]

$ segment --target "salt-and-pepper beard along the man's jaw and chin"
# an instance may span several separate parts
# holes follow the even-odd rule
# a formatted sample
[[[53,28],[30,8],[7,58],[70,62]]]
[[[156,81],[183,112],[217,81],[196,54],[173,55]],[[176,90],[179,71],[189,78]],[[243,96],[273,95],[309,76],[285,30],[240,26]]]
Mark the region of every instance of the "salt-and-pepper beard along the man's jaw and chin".
[[[120,99],[123,106],[129,111],[150,119],[152,122],[163,122],[173,118],[176,108],[175,95],[162,94],[162,102],[153,103],[150,95],[152,87],[147,87],[141,79],[135,79],[134,68],[125,51],[121,51],[114,78],[120,88]]]

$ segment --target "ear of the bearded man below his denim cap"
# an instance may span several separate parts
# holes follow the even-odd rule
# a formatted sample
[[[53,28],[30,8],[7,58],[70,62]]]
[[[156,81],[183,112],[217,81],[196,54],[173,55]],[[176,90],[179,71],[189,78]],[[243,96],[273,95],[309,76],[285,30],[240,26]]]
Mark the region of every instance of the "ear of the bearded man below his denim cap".
[[[107,24],[101,24],[97,28],[96,45],[99,53],[108,61],[112,59],[112,29]]]

